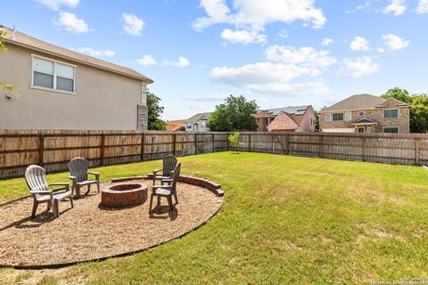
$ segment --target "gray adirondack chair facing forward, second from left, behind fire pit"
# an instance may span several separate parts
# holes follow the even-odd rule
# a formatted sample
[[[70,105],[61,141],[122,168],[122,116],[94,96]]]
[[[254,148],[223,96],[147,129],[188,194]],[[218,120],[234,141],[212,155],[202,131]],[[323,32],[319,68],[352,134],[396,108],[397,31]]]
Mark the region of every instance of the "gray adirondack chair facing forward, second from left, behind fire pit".
[[[98,192],[100,192],[100,174],[96,172],[88,172],[90,163],[83,158],[71,159],[67,164],[70,170],[70,176],[73,185],[72,192],[76,192],[76,198],[80,198],[80,189],[87,186],[85,195],[91,191],[91,185],[96,184]],[[95,179],[88,179],[88,175],[94,175]]]

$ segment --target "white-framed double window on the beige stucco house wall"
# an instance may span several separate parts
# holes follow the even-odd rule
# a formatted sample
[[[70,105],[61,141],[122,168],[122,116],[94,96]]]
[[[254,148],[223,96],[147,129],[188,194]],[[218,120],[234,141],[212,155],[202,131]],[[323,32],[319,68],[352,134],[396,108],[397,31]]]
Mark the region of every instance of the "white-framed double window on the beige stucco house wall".
[[[74,93],[76,67],[33,57],[33,86]]]

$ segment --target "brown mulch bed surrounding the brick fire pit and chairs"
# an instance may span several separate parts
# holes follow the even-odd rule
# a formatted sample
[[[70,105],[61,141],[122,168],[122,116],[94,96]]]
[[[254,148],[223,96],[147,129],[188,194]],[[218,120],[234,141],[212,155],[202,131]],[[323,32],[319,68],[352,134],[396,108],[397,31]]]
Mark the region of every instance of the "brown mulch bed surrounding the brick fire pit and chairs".
[[[116,256],[155,246],[193,230],[213,216],[221,206],[212,192],[185,183],[177,184],[178,204],[168,210],[166,199],[149,216],[152,182],[142,205],[111,209],[100,206],[95,188],[82,199],[60,203],[61,216],[39,205],[31,220],[33,199],[0,206],[0,265],[57,265]],[[125,184],[115,183],[115,184]],[[111,183],[103,183],[109,187]],[[173,201],[175,201],[173,199]]]

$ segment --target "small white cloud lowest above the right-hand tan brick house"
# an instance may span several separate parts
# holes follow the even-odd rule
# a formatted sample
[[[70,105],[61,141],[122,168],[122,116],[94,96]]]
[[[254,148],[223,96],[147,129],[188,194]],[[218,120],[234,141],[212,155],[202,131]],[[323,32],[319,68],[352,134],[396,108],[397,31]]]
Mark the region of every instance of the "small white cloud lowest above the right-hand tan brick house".
[[[363,56],[355,60],[345,59],[343,66],[337,72],[339,76],[362,77],[379,72],[380,65],[369,56]]]

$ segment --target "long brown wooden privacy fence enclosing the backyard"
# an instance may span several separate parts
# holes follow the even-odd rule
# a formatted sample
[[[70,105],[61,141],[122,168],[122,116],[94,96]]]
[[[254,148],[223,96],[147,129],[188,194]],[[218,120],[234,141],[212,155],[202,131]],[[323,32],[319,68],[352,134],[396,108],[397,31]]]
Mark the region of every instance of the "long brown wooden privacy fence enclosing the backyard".
[[[62,170],[74,157],[93,166],[228,151],[229,133],[153,131],[0,130],[0,177],[22,175],[30,164]],[[420,165],[428,134],[244,132],[239,151]]]

